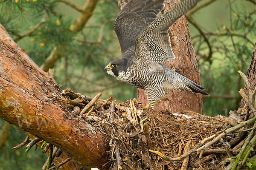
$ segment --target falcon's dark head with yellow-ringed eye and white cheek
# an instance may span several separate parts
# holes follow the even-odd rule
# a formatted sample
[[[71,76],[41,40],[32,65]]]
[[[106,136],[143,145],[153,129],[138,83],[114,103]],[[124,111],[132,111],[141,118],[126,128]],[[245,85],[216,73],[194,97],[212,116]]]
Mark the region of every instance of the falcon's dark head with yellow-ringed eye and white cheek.
[[[121,58],[111,61],[104,69],[108,74],[120,79],[127,69],[127,59]]]

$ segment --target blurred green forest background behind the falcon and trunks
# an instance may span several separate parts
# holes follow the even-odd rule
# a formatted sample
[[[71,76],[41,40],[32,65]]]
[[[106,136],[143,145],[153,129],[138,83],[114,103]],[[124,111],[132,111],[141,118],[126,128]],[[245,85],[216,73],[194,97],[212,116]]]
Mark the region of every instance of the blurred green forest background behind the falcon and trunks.
[[[117,102],[136,97],[136,88],[104,71],[108,62],[121,55],[113,31],[119,12],[117,0],[99,0],[92,17],[77,33],[74,26],[81,12],[61,1],[0,0],[0,23],[39,66],[53,51],[57,58],[54,79],[62,89],[71,88],[86,96],[102,93],[102,99],[112,95]],[[86,5],[86,0],[70,2],[79,8]],[[188,14],[188,23],[201,82],[210,94],[204,98],[203,113],[225,115],[225,111],[236,110],[240,104],[238,91],[244,88],[244,83],[237,71],[247,74],[253,54],[256,1],[203,0],[198,6],[207,2],[209,5]],[[41,23],[43,18],[45,22]],[[0,134],[4,124],[0,119]],[[40,169],[47,157],[39,150],[26,155],[24,148],[10,151],[25,139],[16,129],[11,127],[6,145],[0,148],[0,170]]]

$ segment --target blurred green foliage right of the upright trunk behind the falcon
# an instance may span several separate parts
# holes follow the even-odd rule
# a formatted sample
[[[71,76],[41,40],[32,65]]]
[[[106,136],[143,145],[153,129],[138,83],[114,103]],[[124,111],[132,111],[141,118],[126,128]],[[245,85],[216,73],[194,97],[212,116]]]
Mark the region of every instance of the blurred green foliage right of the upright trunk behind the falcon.
[[[244,1],[229,2],[221,1],[216,5],[220,7],[227,4],[226,16],[221,16],[223,21],[221,24],[217,23],[216,28],[207,28],[204,25],[207,21],[200,21],[200,17],[195,17],[198,23],[196,29],[202,30],[207,40],[191,29],[202,85],[210,94],[209,98],[204,99],[203,112],[211,116],[228,116],[227,111],[239,107],[241,97],[238,91],[244,88],[244,83],[237,71],[247,73],[256,40],[255,6],[252,8],[251,4]],[[207,11],[207,8],[204,10]],[[215,11],[216,16],[218,12],[219,8]]]

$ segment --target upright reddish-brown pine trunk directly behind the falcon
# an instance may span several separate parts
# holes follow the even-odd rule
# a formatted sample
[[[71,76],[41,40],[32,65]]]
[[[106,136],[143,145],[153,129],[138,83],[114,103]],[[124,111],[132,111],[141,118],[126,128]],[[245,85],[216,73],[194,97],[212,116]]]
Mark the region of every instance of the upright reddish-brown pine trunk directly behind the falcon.
[[[169,3],[165,4],[164,11],[168,11],[177,3],[180,3],[180,0],[169,0]],[[185,15],[180,17],[180,19],[178,19],[172,25],[169,30],[169,34],[172,42],[172,50],[176,58],[168,62],[164,62],[163,64],[201,85],[198,64]],[[142,89],[137,89],[137,96],[138,101],[143,103],[143,105],[148,104],[145,91]],[[172,113],[181,110],[202,113],[203,105],[201,94],[189,94],[186,91],[174,90],[169,94],[166,94],[164,97],[168,98],[169,100],[160,102],[160,104],[154,109],[168,109]]]

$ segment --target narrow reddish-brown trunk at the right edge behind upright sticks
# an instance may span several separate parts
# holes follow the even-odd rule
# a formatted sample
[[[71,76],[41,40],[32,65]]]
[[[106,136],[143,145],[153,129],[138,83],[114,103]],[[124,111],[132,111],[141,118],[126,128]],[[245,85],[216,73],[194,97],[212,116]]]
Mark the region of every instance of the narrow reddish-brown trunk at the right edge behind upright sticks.
[[[256,44],[255,44],[255,48],[253,51],[253,57],[252,57],[252,60],[251,60],[251,63],[250,63],[250,66],[249,66],[249,69],[247,72],[247,77],[248,77],[248,80],[249,80],[252,88],[255,88],[255,86],[256,86],[255,76],[256,76]],[[244,90],[246,93],[248,93],[247,87],[245,87]],[[246,102],[242,98],[241,103],[240,103],[240,108],[244,108],[245,103]]]

